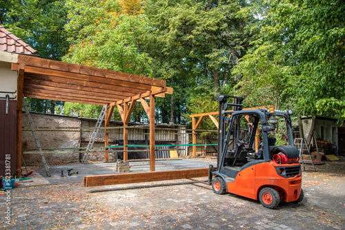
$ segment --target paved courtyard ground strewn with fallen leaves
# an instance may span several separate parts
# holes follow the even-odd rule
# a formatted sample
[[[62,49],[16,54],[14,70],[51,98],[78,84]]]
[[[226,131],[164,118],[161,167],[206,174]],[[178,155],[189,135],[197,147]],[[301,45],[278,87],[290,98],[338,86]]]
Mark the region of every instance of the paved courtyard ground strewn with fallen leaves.
[[[157,169],[173,169],[182,167],[184,163],[201,167],[208,165],[205,161],[190,159],[158,161]],[[131,171],[136,167],[144,170],[145,164],[130,163]],[[326,169],[328,164],[317,166],[316,173],[311,169],[304,173],[305,199],[302,203],[283,203],[274,210],[240,196],[216,195],[210,186],[192,180],[83,187],[79,178],[86,172],[80,169],[74,178],[54,175],[43,178],[36,174],[41,185],[12,189],[10,206],[6,205],[6,196],[0,196],[0,228],[345,229],[345,160],[331,164],[331,171]],[[108,171],[105,168],[112,167],[101,165],[99,171],[104,174]],[[70,166],[73,165],[59,167]],[[59,167],[55,166],[54,174],[59,173]],[[6,223],[6,207],[10,207],[10,224]]]

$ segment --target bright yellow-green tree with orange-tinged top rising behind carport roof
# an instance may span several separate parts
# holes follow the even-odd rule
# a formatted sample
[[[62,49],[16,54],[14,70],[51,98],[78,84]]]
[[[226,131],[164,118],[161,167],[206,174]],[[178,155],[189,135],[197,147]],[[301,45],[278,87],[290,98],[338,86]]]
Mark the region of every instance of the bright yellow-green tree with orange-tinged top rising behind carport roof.
[[[117,1],[72,1],[70,52],[63,61],[130,74],[150,75],[151,59],[139,52],[139,36],[147,32],[144,15],[121,14]]]

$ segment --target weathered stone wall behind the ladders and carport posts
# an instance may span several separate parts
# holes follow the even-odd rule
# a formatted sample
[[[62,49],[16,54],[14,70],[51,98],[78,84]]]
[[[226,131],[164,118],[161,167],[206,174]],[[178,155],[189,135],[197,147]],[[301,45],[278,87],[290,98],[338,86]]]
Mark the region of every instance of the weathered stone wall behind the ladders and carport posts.
[[[37,136],[43,151],[49,151],[49,153],[44,154],[48,165],[59,165],[63,163],[79,163],[83,158],[84,149],[88,146],[90,137],[93,132],[93,128],[97,123],[97,119],[91,118],[78,118],[73,116],[61,116],[56,114],[41,114],[37,112],[30,112],[32,117],[32,122],[35,127],[70,127],[70,128],[90,128],[83,129],[82,131],[68,132],[65,130],[59,130],[57,128],[54,131],[39,131],[37,130]],[[142,125],[138,123],[130,123],[130,125]],[[110,121],[110,127],[119,127],[119,129],[110,129],[109,134],[109,145],[123,145],[123,123],[121,121]],[[146,124],[147,126],[147,124]],[[22,149],[23,158],[26,165],[40,166],[42,164],[41,155],[38,154],[37,146],[34,141],[32,132],[28,130],[30,127],[28,123],[28,116],[23,112],[23,129],[22,132]],[[104,123],[101,125],[104,127]],[[160,128],[160,129],[159,129]],[[166,130],[166,128],[172,128],[171,130]],[[175,144],[188,144],[188,135],[176,135],[177,131],[181,134],[186,133],[186,127],[181,129],[180,125],[156,125],[156,144],[157,145],[175,145]],[[172,134],[169,134],[171,132]],[[128,144],[129,145],[148,145],[149,143],[149,130],[148,127],[134,127],[129,130],[128,134]],[[104,147],[104,129],[99,129],[99,133],[95,138],[95,144],[93,147],[97,151],[97,147]],[[181,140],[183,139],[183,140]],[[132,151],[128,154],[129,159],[140,159],[147,158],[148,151],[143,149],[148,149],[147,147],[132,147],[131,149],[136,149],[138,151]],[[179,147],[179,155],[185,155],[188,151],[188,147]],[[186,150],[181,150],[186,149]],[[120,150],[120,149],[118,149]],[[28,153],[28,151],[36,151],[37,153]],[[77,151],[77,152],[72,152]],[[104,152],[95,153],[91,152],[88,160],[90,161],[103,161]],[[109,153],[108,159],[110,161],[117,160],[117,158],[122,159],[123,153]]]

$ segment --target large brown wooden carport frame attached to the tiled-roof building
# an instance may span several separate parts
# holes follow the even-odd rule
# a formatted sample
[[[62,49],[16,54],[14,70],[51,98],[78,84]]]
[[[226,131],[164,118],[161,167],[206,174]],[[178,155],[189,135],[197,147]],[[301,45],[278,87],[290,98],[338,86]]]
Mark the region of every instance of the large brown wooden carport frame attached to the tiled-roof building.
[[[150,171],[155,171],[155,96],[172,94],[166,81],[96,67],[41,59],[34,55],[1,52],[1,59],[17,71],[17,177],[21,176],[21,127],[23,96],[92,105],[107,104],[106,127],[115,106],[124,123],[124,160],[128,160],[128,122],[140,101],[150,119]],[[149,104],[146,99],[149,99]],[[108,146],[106,133],[105,146]],[[105,154],[108,161],[108,153]]]

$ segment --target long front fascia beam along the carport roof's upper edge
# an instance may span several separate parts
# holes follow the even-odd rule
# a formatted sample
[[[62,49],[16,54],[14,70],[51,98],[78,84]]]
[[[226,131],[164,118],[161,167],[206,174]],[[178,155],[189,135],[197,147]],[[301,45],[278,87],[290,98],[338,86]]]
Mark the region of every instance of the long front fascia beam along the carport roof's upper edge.
[[[141,83],[145,85],[155,85],[165,87],[166,81],[161,79],[153,79],[146,76],[139,76],[135,74],[126,74],[122,72],[115,72],[112,70],[102,70],[96,67],[89,67],[85,65],[76,65],[71,63],[63,63],[61,61],[54,61],[49,59],[41,59],[37,56],[21,55],[18,56],[18,63],[24,63],[32,67],[41,67],[47,70],[59,70],[63,72],[71,72],[76,74],[85,74],[89,76],[100,76],[106,79],[116,79],[120,81],[128,81],[129,83]]]

